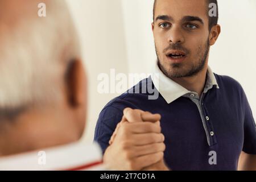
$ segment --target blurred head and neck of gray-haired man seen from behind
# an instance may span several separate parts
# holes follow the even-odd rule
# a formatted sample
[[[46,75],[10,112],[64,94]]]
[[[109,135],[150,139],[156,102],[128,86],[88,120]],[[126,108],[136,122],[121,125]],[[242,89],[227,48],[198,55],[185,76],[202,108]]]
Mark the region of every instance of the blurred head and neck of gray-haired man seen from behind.
[[[0,1],[0,155],[73,142],[84,131],[85,74],[63,0]]]

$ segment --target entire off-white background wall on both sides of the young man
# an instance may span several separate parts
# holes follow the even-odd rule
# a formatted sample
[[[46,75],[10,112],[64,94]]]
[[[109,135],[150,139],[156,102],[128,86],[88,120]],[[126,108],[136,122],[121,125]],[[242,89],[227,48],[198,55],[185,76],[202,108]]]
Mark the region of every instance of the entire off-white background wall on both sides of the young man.
[[[256,116],[256,1],[219,0],[222,32],[210,50],[209,65],[220,75],[239,81]],[[92,141],[102,107],[115,94],[97,92],[97,76],[110,73],[150,73],[155,61],[151,32],[153,0],[68,0],[82,43],[89,76],[88,126]],[[232,104],[232,103],[230,103]]]

